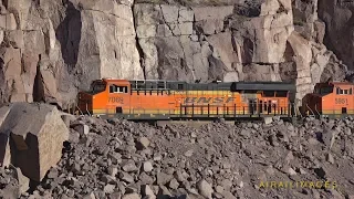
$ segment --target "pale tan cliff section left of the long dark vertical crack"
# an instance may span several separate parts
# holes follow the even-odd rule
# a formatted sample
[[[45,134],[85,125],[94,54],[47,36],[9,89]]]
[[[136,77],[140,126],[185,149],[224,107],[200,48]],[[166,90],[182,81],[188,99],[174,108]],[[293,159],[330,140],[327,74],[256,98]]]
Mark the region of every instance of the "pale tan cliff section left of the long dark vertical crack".
[[[144,77],[131,4],[8,0],[2,10],[2,102],[65,106],[93,80]]]

